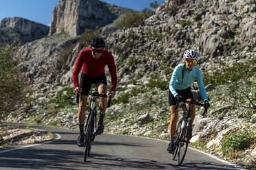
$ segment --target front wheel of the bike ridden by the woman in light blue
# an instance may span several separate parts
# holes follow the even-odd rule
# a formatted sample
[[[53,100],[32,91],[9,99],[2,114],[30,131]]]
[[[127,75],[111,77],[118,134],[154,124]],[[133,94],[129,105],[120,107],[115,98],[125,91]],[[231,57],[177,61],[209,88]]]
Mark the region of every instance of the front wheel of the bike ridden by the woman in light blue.
[[[191,120],[184,121],[184,127],[181,130],[180,134],[180,142],[178,145],[178,153],[177,153],[177,165],[182,165],[184,158],[186,156],[186,151],[189,146],[189,130],[191,130]]]

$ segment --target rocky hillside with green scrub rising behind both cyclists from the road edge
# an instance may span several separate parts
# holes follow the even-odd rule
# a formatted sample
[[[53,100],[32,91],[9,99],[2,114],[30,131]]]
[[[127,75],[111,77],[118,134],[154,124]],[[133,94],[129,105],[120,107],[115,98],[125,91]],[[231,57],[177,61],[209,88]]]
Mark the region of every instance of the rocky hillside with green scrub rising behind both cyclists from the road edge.
[[[65,5],[57,11],[64,16]],[[204,118],[202,108],[197,108],[192,145],[255,168],[255,11],[254,0],[167,0],[142,25],[104,34],[118,70],[116,98],[105,121],[107,132],[167,140],[171,73],[182,62],[185,49],[196,49],[211,108]],[[8,121],[77,127],[72,71],[83,47],[79,37],[60,30],[19,49],[20,66],[34,91]],[[57,71],[56,57],[64,47],[72,50]],[[192,88],[200,99],[197,84]],[[228,149],[237,143],[245,143],[243,149]]]

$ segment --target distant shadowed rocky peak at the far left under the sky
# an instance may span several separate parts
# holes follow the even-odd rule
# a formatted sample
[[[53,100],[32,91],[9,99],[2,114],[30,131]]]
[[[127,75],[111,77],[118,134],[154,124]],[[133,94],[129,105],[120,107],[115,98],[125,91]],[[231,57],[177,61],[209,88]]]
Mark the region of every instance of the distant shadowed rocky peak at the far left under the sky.
[[[24,44],[46,36],[49,27],[41,23],[36,23],[20,17],[6,18],[0,23],[0,40],[1,42],[18,42]]]

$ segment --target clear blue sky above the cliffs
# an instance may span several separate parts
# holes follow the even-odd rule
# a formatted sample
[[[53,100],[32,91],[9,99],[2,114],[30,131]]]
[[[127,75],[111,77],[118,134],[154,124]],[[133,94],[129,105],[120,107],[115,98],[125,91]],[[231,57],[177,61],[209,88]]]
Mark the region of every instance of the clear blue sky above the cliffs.
[[[0,21],[7,17],[19,16],[30,21],[50,25],[52,10],[59,0],[0,0]],[[149,8],[149,4],[164,0],[100,0],[132,10],[142,11]]]

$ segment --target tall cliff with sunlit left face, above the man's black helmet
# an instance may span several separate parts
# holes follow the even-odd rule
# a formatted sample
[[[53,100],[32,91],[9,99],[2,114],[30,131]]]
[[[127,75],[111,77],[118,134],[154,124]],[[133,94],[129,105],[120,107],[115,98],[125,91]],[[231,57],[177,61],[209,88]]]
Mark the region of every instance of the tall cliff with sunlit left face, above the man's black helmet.
[[[131,11],[98,0],[61,0],[52,12],[50,35],[66,32],[75,37],[85,28],[103,27]]]

